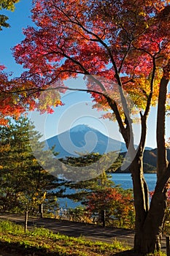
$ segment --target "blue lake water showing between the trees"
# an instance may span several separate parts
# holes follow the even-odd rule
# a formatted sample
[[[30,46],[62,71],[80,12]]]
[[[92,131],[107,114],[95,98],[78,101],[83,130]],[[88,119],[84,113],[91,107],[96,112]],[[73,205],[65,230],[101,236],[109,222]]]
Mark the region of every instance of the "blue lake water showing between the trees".
[[[131,173],[111,173],[112,181],[115,185],[120,185],[123,189],[132,189]],[[144,178],[147,181],[147,186],[150,191],[155,189],[156,184],[156,173],[145,173]],[[80,206],[80,203],[75,203],[68,198],[59,198],[59,205],[62,208],[75,208]]]

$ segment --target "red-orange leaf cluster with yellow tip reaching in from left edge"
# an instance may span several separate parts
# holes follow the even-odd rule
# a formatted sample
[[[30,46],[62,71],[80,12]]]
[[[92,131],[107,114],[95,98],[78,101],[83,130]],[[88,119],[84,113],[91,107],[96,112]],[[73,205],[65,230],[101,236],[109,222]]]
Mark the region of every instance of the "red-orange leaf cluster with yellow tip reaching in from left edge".
[[[4,72],[4,66],[0,67],[0,124],[8,124],[8,117],[18,119],[21,113],[28,110],[39,109],[42,113],[53,113],[52,106],[62,105],[58,93],[52,97],[52,92],[40,96],[39,90],[32,90],[32,84],[23,83],[18,78],[9,79]],[[36,99],[39,98],[39,102]],[[50,98],[50,102],[49,102]]]

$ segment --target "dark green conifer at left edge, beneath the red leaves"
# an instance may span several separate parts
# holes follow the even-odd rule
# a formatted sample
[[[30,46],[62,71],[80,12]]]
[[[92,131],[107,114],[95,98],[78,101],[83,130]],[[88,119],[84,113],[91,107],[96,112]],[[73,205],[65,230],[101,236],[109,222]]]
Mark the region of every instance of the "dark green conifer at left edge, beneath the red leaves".
[[[28,131],[28,119],[23,117],[0,130],[1,208],[34,214],[39,204],[44,203],[47,211],[50,211],[50,205],[55,210],[58,202],[52,189],[58,187],[59,180],[42,169],[29,144],[29,140],[34,139],[39,148],[45,147],[45,143],[39,143],[39,132],[34,130],[34,125],[29,125]]]

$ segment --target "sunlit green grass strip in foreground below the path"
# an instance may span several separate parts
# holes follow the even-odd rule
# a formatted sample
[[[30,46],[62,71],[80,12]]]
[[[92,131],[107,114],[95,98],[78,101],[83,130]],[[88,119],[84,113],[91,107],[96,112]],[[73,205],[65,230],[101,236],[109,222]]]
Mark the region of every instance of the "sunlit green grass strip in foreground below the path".
[[[18,256],[132,255],[131,248],[117,240],[113,240],[112,244],[94,242],[83,237],[74,238],[56,234],[43,227],[34,227],[34,230],[24,233],[23,226],[9,221],[0,221],[0,248]],[[159,255],[163,256],[163,254],[155,254],[155,256]]]

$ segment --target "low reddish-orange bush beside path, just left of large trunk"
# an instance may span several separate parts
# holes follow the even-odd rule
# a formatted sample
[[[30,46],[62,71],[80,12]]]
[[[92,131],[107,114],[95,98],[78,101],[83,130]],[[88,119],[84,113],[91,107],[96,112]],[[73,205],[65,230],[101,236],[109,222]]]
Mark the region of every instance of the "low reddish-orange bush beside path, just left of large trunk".
[[[102,211],[106,211],[106,225],[134,228],[134,200],[130,190],[104,187],[92,192],[86,200],[91,216],[99,213],[97,222],[102,223]]]

